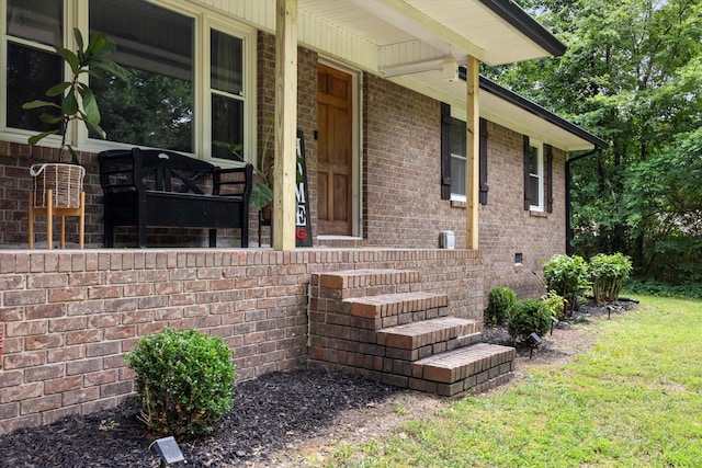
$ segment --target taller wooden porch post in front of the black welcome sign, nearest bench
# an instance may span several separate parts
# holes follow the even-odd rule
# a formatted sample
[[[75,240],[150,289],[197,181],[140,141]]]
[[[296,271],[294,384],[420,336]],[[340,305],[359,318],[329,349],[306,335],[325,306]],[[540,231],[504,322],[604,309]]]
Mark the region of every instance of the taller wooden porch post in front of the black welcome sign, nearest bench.
[[[297,0],[275,0],[273,249],[295,249]]]

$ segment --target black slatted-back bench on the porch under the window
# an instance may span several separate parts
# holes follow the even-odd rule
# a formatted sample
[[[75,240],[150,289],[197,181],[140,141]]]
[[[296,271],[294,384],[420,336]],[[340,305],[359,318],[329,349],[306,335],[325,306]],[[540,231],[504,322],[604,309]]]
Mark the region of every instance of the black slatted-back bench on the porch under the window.
[[[241,229],[249,247],[249,198],[253,168],[222,169],[206,161],[158,149],[110,150],[99,155],[104,192],[105,247],[114,228],[136,226],[137,244],[146,247],[147,227]]]

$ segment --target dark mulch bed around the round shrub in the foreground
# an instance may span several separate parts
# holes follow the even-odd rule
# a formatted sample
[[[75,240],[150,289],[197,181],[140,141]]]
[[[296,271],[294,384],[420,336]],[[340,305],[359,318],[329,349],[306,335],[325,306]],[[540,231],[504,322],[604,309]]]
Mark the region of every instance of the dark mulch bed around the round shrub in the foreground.
[[[343,410],[365,408],[397,389],[320,370],[267,374],[237,386],[234,409],[211,436],[180,444],[189,467],[238,467],[313,437]],[[0,436],[0,467],[157,467],[151,438],[128,403]]]

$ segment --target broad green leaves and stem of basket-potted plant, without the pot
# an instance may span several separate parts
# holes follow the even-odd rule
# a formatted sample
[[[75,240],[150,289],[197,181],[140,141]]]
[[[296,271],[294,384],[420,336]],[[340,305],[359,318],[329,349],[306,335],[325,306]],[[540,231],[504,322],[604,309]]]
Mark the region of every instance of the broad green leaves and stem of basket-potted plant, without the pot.
[[[34,100],[22,104],[22,109],[54,107],[58,110],[58,113],[43,113],[39,118],[44,123],[52,125],[60,124],[60,126],[56,129],[42,132],[32,136],[27,142],[30,145],[36,145],[49,135],[60,135],[59,162],[65,150],[68,149],[71,155],[71,161],[78,163],[76,151],[66,142],[68,124],[71,121],[80,121],[86,125],[88,132],[102,139],[106,138],[105,132],[100,127],[100,110],[98,109],[95,96],[90,87],[80,81],[81,76],[88,73],[100,77],[102,76],[101,73],[109,73],[126,80],[127,72],[117,64],[106,58],[107,55],[116,49],[116,45],[104,34],[95,33],[90,36],[87,46],[83,44],[83,36],[78,28],[73,30],[73,35],[78,44],[78,50],[76,50],[76,53],[60,46],[54,47],[59,57],[70,66],[72,73],[70,81],[55,84],[46,91],[46,96],[48,98],[60,95],[63,98],[60,105],[50,101]]]

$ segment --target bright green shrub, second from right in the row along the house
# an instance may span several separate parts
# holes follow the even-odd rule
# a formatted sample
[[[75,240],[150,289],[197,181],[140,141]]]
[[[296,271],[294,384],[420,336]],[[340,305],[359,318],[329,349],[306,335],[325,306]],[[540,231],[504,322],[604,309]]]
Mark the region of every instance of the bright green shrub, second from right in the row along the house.
[[[565,313],[571,315],[578,299],[578,292],[589,286],[588,264],[579,255],[553,255],[544,264],[546,287],[566,300]]]

